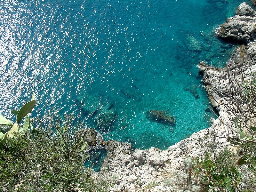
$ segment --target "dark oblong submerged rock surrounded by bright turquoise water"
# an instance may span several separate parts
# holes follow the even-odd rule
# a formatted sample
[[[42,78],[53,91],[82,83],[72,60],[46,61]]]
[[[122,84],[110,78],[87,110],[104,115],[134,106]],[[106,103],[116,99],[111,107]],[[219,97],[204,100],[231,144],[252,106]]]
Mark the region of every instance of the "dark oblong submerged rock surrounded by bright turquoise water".
[[[161,124],[174,125],[176,121],[175,117],[168,115],[166,111],[148,110],[146,116],[149,121]]]

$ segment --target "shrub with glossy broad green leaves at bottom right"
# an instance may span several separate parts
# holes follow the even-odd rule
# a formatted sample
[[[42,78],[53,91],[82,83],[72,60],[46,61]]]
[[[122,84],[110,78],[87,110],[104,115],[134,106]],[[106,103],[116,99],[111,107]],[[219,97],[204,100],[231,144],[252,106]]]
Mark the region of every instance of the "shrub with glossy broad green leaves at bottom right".
[[[239,191],[242,174],[237,167],[218,167],[211,155],[193,159],[195,174],[202,174],[206,186],[216,192]]]

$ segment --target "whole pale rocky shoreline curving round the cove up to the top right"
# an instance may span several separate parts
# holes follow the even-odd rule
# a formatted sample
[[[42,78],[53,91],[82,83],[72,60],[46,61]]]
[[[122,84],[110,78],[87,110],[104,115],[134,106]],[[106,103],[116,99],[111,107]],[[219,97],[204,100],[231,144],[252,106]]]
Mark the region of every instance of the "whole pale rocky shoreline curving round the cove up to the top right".
[[[253,1],[253,4],[255,5],[256,1]],[[178,169],[183,160],[189,156],[201,156],[203,154],[201,145],[215,142],[218,144],[216,151],[230,146],[230,143],[223,137],[227,132],[225,125],[221,123],[222,120],[231,124],[232,120],[231,112],[227,107],[229,96],[227,86],[225,86],[229,83],[227,71],[231,74],[241,75],[239,74],[241,71],[239,72],[237,69],[245,67],[244,71],[248,75],[250,71],[244,66],[245,63],[250,63],[250,70],[256,70],[256,63],[248,59],[256,55],[256,42],[253,42],[256,38],[256,12],[248,4],[243,3],[238,6],[236,14],[220,26],[218,36],[243,42],[246,45],[237,49],[225,68],[214,68],[205,62],[199,63],[199,72],[203,76],[202,82],[212,106],[219,113],[219,118],[216,120],[212,118],[212,127],[193,133],[189,138],[181,140],[167,150],[157,148],[133,150],[132,144],[114,140],[104,143],[101,139],[100,143],[104,143],[108,148],[108,154],[102,167],[108,170],[108,177],[116,176],[117,178],[111,191],[135,192],[152,181],[155,181],[157,185],[151,191],[166,191],[163,184],[165,173]],[[92,134],[96,139],[97,134]],[[97,137],[99,138],[99,136]],[[96,173],[95,177],[98,177]]]

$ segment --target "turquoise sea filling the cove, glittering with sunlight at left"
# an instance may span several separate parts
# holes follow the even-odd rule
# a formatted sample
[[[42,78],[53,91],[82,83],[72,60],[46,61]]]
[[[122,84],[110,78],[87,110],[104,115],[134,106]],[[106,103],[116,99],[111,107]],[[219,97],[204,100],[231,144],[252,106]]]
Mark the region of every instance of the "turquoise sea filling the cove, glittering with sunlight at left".
[[[105,140],[165,149],[209,127],[196,65],[225,65],[235,46],[214,31],[242,2],[3,0],[0,113],[11,118],[35,91],[34,116],[74,112]],[[176,124],[149,121],[147,110]],[[113,125],[99,128],[99,112],[113,112]]]

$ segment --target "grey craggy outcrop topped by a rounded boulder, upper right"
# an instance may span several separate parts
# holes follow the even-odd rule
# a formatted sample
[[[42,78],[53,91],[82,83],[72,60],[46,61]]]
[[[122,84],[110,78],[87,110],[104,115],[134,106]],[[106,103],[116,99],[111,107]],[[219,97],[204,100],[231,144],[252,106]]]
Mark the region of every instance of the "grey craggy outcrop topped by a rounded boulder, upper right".
[[[246,3],[236,10],[237,15],[230,17],[218,29],[218,36],[249,43],[256,37],[256,12]]]

